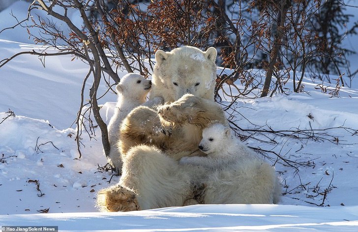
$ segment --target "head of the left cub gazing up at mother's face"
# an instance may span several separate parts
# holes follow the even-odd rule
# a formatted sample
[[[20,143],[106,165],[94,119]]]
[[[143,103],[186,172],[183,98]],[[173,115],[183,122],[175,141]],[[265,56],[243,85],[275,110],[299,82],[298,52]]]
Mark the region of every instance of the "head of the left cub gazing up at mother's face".
[[[146,101],[151,88],[151,81],[137,73],[128,73],[120,79],[116,91],[125,98]]]

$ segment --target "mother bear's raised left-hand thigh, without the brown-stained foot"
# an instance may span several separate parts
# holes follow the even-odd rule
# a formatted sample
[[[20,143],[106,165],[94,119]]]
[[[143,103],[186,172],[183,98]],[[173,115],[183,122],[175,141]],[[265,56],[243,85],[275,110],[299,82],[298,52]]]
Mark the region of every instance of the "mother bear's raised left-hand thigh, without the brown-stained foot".
[[[155,147],[135,146],[124,159],[119,185],[138,193],[141,209],[182,206],[190,195],[189,175]]]

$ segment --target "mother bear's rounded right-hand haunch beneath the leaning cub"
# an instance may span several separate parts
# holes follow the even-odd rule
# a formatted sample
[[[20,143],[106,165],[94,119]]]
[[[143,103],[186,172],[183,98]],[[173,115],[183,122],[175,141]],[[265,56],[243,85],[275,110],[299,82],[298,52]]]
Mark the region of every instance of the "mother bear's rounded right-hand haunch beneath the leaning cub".
[[[271,204],[277,203],[280,196],[272,167],[259,160],[216,169],[205,183],[206,204]]]

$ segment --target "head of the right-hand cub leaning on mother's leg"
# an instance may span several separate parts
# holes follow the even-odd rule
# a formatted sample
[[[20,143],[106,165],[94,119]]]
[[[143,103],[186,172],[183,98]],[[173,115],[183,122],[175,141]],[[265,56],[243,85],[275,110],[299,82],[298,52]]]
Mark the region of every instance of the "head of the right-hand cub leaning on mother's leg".
[[[203,139],[199,143],[199,149],[206,153],[216,153],[228,146],[231,138],[231,129],[220,123],[215,123],[203,130]]]

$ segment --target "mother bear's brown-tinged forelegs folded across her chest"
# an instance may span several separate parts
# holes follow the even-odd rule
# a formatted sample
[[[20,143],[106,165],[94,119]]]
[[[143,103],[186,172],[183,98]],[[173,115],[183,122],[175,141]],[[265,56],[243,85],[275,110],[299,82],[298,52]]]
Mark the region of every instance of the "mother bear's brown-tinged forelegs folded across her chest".
[[[213,122],[227,124],[217,103],[186,94],[179,100],[158,107],[158,112],[139,106],[132,110],[120,127],[122,157],[139,144],[155,145],[169,157],[205,155],[198,149],[202,130]]]

